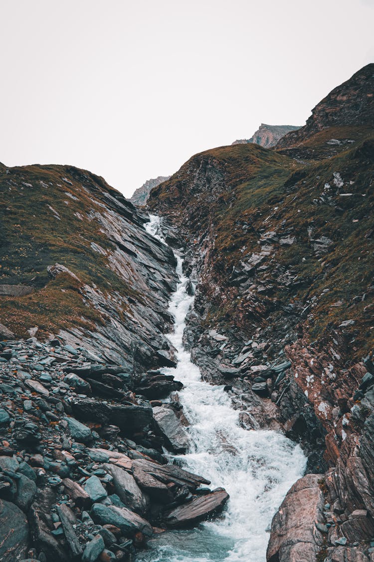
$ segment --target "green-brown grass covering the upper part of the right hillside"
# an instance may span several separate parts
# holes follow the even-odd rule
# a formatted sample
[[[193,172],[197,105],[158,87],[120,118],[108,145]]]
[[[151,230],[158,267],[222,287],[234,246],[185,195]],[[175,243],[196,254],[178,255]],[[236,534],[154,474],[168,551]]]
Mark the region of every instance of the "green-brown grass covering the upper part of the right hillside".
[[[202,235],[209,228],[213,232],[205,290],[209,293],[214,279],[222,291],[210,299],[207,327],[238,323],[244,313],[247,323],[240,320],[241,327],[250,333],[253,298],[233,287],[229,276],[244,256],[260,250],[262,233],[276,230],[280,236],[296,236],[296,242],[292,246],[275,243],[272,256],[263,264],[267,269],[256,272],[255,283],[269,287],[264,294],[256,294],[264,307],[262,320],[275,323],[290,303],[316,297],[313,317],[305,325],[310,340],[343,320],[354,319],[350,328],[355,339],[353,354],[361,356],[373,346],[374,140],[366,129],[336,129],[308,140],[308,147],[321,157],[326,139],[355,139],[354,144],[339,147],[332,158],[299,162],[255,145],[222,147],[194,156],[169,182],[152,191],[151,208],[174,215],[184,228],[188,225],[192,235]],[[204,192],[196,184],[204,160],[224,177],[225,188],[215,196],[209,185]],[[345,182],[340,192],[352,192],[352,197],[336,194],[334,172]],[[314,205],[327,182],[333,188],[330,202],[335,206],[328,201]],[[313,239],[332,240],[325,255],[313,252],[308,228],[313,229]],[[285,271],[297,276],[289,287],[278,283]],[[323,289],[329,291],[321,296]]]

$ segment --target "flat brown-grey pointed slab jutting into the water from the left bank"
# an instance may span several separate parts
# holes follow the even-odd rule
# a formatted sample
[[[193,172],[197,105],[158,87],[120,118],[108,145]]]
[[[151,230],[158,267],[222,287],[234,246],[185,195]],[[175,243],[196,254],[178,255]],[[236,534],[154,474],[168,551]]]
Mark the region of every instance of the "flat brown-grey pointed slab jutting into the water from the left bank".
[[[188,504],[181,505],[170,511],[166,524],[173,529],[194,527],[200,521],[211,518],[222,511],[229,498],[223,488],[217,488],[206,496],[198,497]]]

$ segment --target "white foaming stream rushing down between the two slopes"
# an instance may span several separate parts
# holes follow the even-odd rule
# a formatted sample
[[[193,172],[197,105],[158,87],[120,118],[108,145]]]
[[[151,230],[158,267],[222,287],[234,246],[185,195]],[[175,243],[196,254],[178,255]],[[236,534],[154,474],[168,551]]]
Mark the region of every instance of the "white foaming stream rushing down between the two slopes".
[[[164,242],[160,218],[150,215],[148,232]],[[164,242],[165,243],[165,242]],[[281,433],[246,430],[223,386],[201,380],[200,370],[184,350],[182,337],[193,296],[186,292],[183,260],[177,258],[180,283],[169,310],[175,320],[168,338],[178,351],[176,369],[165,368],[184,384],[179,393],[190,422],[191,450],[179,455],[183,468],[223,486],[230,495],[226,510],[214,522],[193,531],[168,531],[150,541],[142,562],[265,562],[272,517],[291,485],[303,475],[306,459],[298,445]]]

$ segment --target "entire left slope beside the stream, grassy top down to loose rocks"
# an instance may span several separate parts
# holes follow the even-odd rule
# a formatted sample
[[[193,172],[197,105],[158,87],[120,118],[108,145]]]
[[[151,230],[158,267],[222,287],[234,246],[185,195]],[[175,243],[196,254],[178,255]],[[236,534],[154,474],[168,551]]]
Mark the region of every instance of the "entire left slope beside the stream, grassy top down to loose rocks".
[[[188,447],[160,401],[175,257],[87,171],[0,165],[0,189],[0,559],[128,562],[228,500],[163,454]]]

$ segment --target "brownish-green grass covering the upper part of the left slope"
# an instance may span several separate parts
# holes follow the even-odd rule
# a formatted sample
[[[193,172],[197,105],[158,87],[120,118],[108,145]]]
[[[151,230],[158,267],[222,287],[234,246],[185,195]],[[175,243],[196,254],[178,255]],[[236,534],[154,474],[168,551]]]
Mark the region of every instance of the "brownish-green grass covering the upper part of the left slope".
[[[102,322],[84,303],[80,292],[84,283],[103,292],[134,293],[109,269],[106,257],[91,247],[91,242],[111,247],[97,220],[88,214],[102,210],[102,190],[117,192],[102,178],[64,166],[6,170],[0,167],[0,283],[32,285],[36,291],[1,297],[0,322],[17,337],[28,337],[26,329],[32,326],[38,326],[43,336],[71,325],[93,327],[93,322]],[[56,262],[73,271],[80,282],[69,274],[51,280],[47,266]]]

